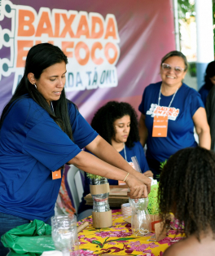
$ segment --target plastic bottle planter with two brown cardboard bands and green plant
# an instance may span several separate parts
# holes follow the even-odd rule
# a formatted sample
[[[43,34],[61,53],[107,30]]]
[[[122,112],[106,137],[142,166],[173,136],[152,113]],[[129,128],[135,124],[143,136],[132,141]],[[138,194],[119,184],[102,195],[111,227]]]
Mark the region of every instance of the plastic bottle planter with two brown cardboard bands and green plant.
[[[94,228],[112,226],[112,210],[108,203],[110,192],[108,179],[95,174],[86,174],[90,179],[90,193],[94,201],[93,226]]]

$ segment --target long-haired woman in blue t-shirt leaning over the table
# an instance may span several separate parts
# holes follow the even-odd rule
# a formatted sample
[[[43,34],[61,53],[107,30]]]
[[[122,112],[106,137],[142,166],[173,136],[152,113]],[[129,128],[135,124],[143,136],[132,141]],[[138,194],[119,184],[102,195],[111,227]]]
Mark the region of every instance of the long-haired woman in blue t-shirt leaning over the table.
[[[66,99],[67,63],[59,47],[33,46],[24,76],[3,109],[0,236],[36,218],[50,223],[65,163],[108,179],[125,179],[132,197],[147,196],[150,190],[151,180],[129,166]],[[84,147],[96,157],[81,151]],[[8,252],[2,243],[0,251],[1,256]]]

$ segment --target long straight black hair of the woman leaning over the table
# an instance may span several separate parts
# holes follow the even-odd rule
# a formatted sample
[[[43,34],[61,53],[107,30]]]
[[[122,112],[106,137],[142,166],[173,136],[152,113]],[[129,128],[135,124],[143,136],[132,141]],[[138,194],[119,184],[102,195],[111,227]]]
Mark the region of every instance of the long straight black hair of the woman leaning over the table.
[[[50,105],[42,94],[33,86],[28,79],[28,74],[33,73],[36,79],[39,79],[44,69],[51,65],[64,62],[68,64],[67,56],[59,49],[58,46],[53,46],[50,43],[41,43],[33,46],[27,55],[24,76],[17,86],[14,95],[9,103],[2,111],[0,119],[0,129],[2,123],[11,110],[11,107],[20,99],[31,97],[37,104],[44,108],[50,117],[61,127],[62,130],[72,139],[72,128],[68,117],[68,100],[66,99],[65,90],[62,91],[59,100],[53,102],[55,113],[50,109]]]

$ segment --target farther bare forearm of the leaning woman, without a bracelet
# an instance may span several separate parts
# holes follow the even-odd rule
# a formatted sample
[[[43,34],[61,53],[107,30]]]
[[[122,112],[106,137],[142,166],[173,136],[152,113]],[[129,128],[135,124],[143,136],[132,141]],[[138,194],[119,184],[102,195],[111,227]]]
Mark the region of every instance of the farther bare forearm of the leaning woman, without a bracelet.
[[[134,175],[135,178],[140,180],[142,183],[147,185],[147,190],[150,192],[151,179],[148,179],[143,174],[138,173],[121,154],[116,151],[105,139],[98,135],[90,144],[86,146],[86,149],[92,152],[96,157],[99,157],[103,161],[108,162],[112,166],[116,166],[121,170],[125,170],[130,174]],[[123,179],[120,179],[123,180]]]

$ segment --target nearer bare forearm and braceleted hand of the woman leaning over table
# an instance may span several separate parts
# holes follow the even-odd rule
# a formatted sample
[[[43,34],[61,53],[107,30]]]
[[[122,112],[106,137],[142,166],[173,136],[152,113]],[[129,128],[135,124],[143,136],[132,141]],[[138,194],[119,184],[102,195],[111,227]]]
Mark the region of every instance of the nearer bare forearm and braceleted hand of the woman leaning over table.
[[[121,156],[118,154],[116,157]],[[94,155],[85,151],[78,153],[76,157],[73,157],[68,161],[68,164],[77,166],[77,168],[90,174],[97,174],[108,179],[124,180],[128,174],[125,170],[111,166],[107,162],[102,161],[98,157],[94,157]],[[131,198],[147,197],[147,186],[136,179],[134,175],[129,174],[125,182],[130,189],[128,196]]]

